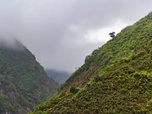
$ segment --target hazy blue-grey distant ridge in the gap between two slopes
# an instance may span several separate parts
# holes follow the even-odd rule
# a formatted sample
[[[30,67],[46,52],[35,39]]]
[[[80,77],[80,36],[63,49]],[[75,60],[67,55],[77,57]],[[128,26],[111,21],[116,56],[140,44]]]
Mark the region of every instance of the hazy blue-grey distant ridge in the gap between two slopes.
[[[65,71],[57,71],[52,69],[45,69],[48,76],[50,76],[52,79],[54,79],[59,84],[64,83],[70,76],[70,73]]]

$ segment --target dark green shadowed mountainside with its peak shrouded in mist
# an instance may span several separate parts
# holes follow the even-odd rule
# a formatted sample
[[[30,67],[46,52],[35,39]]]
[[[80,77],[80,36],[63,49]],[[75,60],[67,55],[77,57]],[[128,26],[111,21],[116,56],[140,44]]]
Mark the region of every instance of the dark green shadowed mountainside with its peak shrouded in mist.
[[[57,87],[19,41],[0,41],[0,114],[25,114]]]

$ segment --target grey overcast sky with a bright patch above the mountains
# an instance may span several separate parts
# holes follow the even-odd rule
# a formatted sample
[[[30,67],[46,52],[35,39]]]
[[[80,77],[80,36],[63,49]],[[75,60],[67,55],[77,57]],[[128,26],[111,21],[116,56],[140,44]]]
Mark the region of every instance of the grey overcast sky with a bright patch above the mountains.
[[[0,35],[17,37],[44,68],[73,72],[109,32],[150,11],[152,0],[0,0]]]

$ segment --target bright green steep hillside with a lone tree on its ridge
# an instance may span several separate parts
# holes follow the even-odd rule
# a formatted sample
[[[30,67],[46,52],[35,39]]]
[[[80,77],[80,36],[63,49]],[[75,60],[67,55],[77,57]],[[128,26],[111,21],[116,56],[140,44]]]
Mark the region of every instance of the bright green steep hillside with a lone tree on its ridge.
[[[33,114],[152,113],[152,13],[86,57]]]

